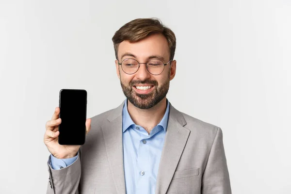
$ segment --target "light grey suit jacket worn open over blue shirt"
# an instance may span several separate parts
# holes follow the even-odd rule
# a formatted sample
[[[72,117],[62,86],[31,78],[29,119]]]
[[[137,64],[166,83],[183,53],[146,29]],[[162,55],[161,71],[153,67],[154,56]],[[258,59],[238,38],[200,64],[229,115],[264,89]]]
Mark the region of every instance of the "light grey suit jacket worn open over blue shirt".
[[[48,161],[47,194],[126,194],[123,105],[91,118],[91,130],[74,163],[53,170]],[[156,194],[231,194],[219,127],[170,104]]]

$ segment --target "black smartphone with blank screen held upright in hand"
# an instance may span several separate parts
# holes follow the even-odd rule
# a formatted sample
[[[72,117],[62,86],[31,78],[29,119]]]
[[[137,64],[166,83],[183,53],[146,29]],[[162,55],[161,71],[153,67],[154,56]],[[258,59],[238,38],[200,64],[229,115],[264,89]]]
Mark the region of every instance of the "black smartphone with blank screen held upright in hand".
[[[83,145],[86,137],[87,91],[62,89],[59,97],[60,145]]]

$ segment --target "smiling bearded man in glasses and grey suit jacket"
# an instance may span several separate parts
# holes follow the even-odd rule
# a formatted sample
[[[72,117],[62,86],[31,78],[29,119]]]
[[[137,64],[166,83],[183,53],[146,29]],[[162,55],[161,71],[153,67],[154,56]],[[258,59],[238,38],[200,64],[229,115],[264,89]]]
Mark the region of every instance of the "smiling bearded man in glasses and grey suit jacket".
[[[135,19],[113,45],[127,99],[86,120],[82,146],[57,143],[56,108],[44,137],[47,194],[231,194],[222,130],[166,98],[176,73],[174,32],[158,19]]]

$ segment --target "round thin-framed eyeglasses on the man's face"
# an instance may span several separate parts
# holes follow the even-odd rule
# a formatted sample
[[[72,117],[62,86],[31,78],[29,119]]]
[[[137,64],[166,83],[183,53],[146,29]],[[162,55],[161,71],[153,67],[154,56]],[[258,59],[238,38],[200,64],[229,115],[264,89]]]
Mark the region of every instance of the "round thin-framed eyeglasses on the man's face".
[[[172,60],[168,63],[171,61]],[[160,59],[151,59],[147,63],[139,63],[135,59],[124,59],[121,63],[118,61],[118,65],[121,65],[122,70],[126,74],[134,74],[139,69],[140,64],[146,64],[146,69],[150,74],[160,75],[163,72],[165,65],[168,65],[168,63],[164,64]]]

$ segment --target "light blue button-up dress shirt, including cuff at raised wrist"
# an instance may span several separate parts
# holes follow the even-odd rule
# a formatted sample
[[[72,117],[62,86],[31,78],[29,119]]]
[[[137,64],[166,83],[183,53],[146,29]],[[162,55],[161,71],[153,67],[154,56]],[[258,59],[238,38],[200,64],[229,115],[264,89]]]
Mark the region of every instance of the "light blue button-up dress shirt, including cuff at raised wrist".
[[[127,194],[154,194],[162,147],[168,124],[169,101],[161,122],[148,134],[146,130],[135,125],[128,108],[127,99],[123,107],[123,161]],[[53,169],[61,169],[75,162],[78,155],[69,159],[57,159],[51,154]]]

